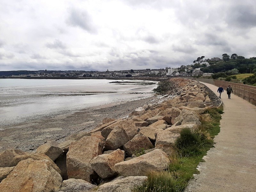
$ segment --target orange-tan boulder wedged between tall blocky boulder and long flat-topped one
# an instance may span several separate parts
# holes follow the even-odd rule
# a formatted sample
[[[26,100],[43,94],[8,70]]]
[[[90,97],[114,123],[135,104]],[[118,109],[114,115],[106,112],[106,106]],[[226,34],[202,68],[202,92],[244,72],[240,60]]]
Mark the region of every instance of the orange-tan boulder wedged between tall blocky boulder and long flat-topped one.
[[[108,178],[116,174],[114,165],[124,161],[124,151],[117,149],[109,154],[96,156],[91,161],[92,169],[101,177]]]

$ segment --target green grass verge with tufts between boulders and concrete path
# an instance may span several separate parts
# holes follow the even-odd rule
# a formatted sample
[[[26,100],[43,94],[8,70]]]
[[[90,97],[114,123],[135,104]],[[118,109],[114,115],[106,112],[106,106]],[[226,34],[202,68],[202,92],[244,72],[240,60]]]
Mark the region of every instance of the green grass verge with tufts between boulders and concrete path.
[[[220,108],[209,108],[202,114],[201,125],[191,131],[187,128],[180,132],[170,156],[171,163],[166,171],[151,172],[148,181],[134,192],[181,192],[186,188],[207,151],[213,147],[213,138],[220,132]]]

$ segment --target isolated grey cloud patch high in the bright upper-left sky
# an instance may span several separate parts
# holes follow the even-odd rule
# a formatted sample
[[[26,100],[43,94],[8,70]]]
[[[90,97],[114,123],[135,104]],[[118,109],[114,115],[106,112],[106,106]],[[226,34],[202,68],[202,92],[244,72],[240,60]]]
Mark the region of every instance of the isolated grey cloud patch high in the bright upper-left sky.
[[[85,10],[71,9],[67,23],[74,27],[80,27],[89,33],[97,33],[89,13]]]

